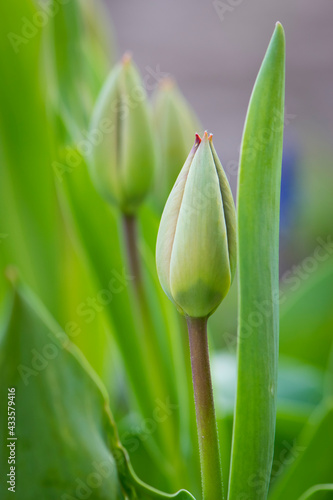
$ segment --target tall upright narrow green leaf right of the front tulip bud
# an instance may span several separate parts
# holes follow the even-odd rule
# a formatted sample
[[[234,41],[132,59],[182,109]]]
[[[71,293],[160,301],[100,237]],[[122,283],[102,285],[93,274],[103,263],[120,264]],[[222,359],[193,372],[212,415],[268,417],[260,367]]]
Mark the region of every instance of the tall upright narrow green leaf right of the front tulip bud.
[[[229,500],[266,499],[278,362],[285,40],[276,25],[247,113],[238,184],[238,380]]]

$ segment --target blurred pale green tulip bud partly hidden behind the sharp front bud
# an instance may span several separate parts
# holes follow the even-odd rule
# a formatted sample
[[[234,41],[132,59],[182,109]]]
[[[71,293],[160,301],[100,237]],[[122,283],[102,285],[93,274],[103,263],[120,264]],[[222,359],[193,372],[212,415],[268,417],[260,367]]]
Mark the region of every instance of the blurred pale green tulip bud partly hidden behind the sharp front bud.
[[[162,212],[193,135],[201,128],[194,111],[170,78],[162,80],[153,97],[153,123],[159,147],[154,204]]]

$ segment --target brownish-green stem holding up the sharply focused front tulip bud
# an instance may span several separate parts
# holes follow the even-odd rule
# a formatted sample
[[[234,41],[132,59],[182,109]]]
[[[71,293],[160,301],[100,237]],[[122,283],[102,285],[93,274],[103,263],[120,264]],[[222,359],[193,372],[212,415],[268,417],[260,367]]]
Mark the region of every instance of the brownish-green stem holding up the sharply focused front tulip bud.
[[[221,500],[222,471],[210,374],[207,318],[187,318],[203,500]]]

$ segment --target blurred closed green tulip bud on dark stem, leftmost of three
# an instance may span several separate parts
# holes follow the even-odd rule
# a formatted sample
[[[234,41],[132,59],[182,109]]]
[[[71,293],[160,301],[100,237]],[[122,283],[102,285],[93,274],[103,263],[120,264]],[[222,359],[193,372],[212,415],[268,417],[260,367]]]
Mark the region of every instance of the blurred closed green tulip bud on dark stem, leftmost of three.
[[[126,55],[98,98],[91,128],[90,172],[98,191],[133,214],[153,182],[155,148],[146,92]]]

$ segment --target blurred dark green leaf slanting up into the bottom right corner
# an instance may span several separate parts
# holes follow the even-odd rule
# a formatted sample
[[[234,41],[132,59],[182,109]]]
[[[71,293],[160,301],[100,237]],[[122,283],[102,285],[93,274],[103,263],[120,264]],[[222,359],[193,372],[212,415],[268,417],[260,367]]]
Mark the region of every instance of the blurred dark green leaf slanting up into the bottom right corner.
[[[270,500],[295,500],[305,489],[333,480],[333,406],[319,408],[310,418],[283,475],[274,482]]]

